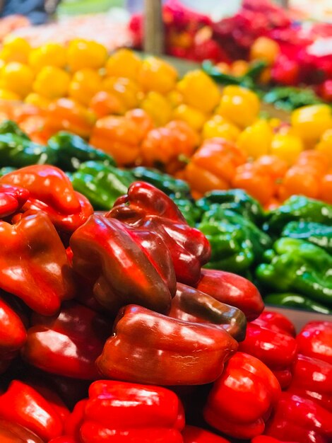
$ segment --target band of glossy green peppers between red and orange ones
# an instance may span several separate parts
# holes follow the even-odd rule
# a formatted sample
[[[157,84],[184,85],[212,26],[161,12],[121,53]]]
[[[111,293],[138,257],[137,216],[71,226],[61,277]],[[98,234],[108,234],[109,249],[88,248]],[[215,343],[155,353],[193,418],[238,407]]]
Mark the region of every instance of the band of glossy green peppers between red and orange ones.
[[[332,313],[332,206],[292,196],[270,212],[243,190],[208,192],[194,200],[189,186],[152,168],[117,168],[114,159],[68,132],[38,145],[6,121],[0,125],[0,175],[48,163],[67,173],[95,210],[109,210],[142,180],[172,197],[186,221],[211,243],[208,267],[249,278],[267,304]]]

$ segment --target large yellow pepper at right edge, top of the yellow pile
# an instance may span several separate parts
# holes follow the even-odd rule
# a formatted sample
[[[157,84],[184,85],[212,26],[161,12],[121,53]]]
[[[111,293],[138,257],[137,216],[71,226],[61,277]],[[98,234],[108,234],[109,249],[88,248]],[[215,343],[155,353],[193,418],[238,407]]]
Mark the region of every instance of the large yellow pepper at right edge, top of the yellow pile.
[[[328,105],[310,105],[297,108],[291,115],[292,127],[304,143],[311,145],[332,129],[332,113]]]

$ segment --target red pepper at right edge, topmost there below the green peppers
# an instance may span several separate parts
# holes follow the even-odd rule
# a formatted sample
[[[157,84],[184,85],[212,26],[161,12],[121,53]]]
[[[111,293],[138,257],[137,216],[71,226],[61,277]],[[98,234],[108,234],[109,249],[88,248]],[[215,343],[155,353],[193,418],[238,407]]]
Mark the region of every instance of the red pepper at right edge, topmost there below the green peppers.
[[[332,321],[311,321],[297,335],[299,353],[332,364]]]

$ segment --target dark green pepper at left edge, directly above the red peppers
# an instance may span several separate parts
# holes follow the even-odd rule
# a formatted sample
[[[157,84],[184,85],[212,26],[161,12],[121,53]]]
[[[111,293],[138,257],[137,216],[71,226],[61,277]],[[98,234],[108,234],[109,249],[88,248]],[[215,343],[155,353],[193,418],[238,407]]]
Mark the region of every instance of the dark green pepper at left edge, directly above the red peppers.
[[[56,153],[49,146],[31,142],[14,133],[0,134],[0,166],[54,165],[56,159]]]

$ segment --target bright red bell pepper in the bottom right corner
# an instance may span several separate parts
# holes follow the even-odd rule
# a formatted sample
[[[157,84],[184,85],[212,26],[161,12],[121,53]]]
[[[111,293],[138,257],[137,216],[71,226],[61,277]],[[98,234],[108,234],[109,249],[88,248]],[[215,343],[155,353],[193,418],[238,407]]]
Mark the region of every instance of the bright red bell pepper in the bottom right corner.
[[[301,443],[328,443],[332,413],[307,398],[283,392],[265,430],[277,439]]]

